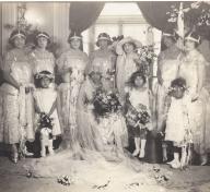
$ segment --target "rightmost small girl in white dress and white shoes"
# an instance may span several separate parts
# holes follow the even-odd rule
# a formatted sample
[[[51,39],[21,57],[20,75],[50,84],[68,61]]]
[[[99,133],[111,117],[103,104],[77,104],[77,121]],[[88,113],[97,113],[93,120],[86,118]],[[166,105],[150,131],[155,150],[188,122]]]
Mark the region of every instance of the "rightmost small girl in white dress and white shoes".
[[[165,141],[173,142],[174,159],[167,164],[172,168],[180,168],[187,164],[187,147],[191,143],[191,133],[187,111],[186,81],[175,79],[171,83],[171,106],[167,112]],[[182,157],[179,153],[182,152]],[[188,156],[190,151],[188,151]],[[180,160],[179,160],[180,158]]]

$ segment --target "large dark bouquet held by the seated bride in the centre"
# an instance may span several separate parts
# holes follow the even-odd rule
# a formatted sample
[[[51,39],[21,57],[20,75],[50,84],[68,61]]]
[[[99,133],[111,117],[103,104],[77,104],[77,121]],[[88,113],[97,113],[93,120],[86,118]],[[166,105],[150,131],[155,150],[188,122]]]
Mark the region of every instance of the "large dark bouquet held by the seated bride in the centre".
[[[112,112],[118,112],[121,109],[118,96],[114,92],[97,89],[93,99],[94,113],[96,117],[108,116]]]

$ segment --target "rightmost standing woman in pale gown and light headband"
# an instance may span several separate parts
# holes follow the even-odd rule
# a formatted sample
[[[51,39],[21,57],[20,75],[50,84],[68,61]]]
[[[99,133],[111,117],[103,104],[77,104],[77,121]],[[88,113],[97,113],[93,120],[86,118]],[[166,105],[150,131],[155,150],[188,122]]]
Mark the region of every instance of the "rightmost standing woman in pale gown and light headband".
[[[190,32],[186,35],[178,75],[186,79],[188,86],[188,116],[194,149],[200,156],[200,164],[206,165],[210,152],[210,96],[205,87],[208,63],[197,50],[199,45],[198,34]]]

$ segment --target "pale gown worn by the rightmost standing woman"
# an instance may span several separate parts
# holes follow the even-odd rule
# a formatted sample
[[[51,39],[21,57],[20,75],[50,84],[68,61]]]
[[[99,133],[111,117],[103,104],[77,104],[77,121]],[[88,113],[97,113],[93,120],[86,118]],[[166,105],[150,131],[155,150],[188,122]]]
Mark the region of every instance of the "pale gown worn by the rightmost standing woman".
[[[179,67],[179,76],[186,80],[188,86],[189,122],[192,131],[194,147],[198,154],[205,154],[210,149],[210,96],[203,86],[199,93],[198,100],[191,101],[191,97],[196,93],[199,81],[198,68],[207,64],[203,56],[195,49],[182,58]]]

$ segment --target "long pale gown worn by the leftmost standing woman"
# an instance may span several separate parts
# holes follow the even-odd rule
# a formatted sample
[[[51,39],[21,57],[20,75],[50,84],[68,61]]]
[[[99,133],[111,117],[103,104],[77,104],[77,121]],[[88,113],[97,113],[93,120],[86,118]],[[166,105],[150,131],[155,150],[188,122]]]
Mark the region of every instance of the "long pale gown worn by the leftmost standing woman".
[[[26,140],[34,140],[34,104],[32,93],[25,93],[25,86],[32,85],[32,65],[24,50],[13,49],[5,55],[2,71],[22,84],[20,91],[3,83],[1,85],[0,141],[8,144],[19,143],[25,134]]]

